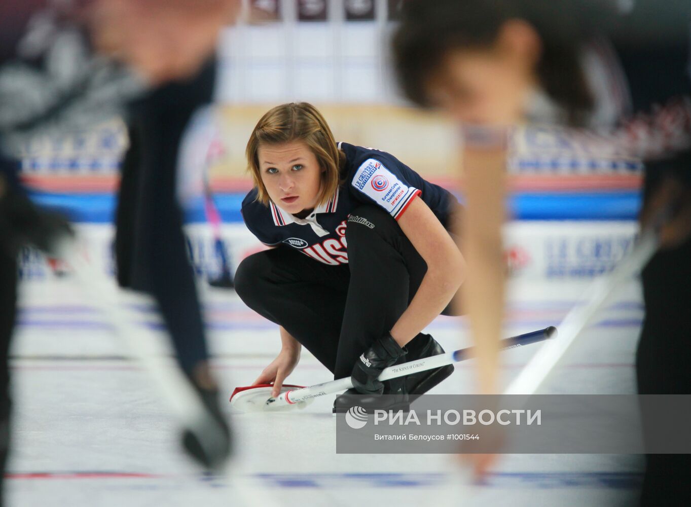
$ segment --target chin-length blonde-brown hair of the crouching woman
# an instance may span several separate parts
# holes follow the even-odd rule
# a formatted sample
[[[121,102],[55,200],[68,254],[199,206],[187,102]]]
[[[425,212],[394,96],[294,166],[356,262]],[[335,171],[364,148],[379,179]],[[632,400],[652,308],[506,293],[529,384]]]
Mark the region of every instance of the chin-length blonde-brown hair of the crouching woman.
[[[247,171],[252,174],[257,199],[269,204],[269,194],[261,180],[258,150],[261,144],[281,144],[302,141],[312,150],[321,173],[321,190],[316,204],[324,204],[341,184],[341,170],[345,166],[345,153],[338,149],[334,135],[316,107],[307,102],[291,102],[276,106],[257,122],[247,141],[245,156]]]

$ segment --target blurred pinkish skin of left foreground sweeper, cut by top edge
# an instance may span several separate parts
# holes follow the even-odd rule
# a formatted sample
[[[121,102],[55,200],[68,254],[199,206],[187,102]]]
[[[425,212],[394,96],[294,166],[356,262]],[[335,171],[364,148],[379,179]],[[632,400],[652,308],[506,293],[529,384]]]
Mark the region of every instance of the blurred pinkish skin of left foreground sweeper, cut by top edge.
[[[196,74],[239,8],[240,0],[94,0],[86,19],[98,52],[155,86]]]

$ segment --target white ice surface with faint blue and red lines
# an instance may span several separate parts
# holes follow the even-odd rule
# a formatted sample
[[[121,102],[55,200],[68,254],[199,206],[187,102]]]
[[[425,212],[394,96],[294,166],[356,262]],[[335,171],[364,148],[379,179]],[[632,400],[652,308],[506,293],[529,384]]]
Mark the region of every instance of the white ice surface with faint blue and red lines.
[[[584,287],[513,287],[507,336],[557,325]],[[233,292],[202,289],[202,297],[214,365],[229,396],[276,355],[278,332]],[[139,307],[137,315],[142,340],[163,338],[155,314]],[[632,284],[542,392],[634,392],[642,316]],[[179,452],[167,405],[69,278],[24,285],[20,321],[12,348],[9,506],[624,506],[641,480],[640,458],[620,455],[504,456],[486,484],[473,488],[460,484],[452,455],[337,455],[331,396],[282,414],[236,414],[223,405],[237,452],[230,477],[209,477]],[[463,318],[438,318],[428,331],[447,350],[469,345]],[[504,352],[507,381],[538,346]],[[471,393],[472,368],[460,363],[433,392]],[[304,353],[289,380],[330,379]]]

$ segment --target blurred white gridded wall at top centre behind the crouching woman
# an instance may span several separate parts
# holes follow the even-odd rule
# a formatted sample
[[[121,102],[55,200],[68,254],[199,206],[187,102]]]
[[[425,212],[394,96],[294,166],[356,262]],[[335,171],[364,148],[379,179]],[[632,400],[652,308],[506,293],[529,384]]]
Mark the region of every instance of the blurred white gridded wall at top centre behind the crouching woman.
[[[282,21],[228,28],[220,43],[221,102],[399,104],[388,69],[386,0],[375,21],[345,21],[343,0],[329,0],[328,21],[298,21],[282,0]]]

